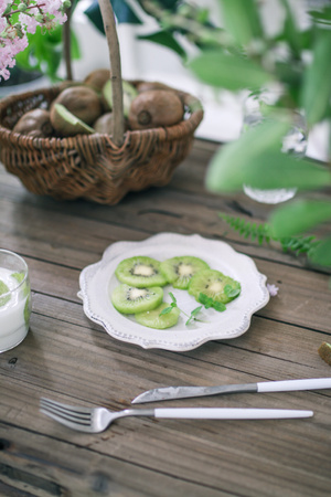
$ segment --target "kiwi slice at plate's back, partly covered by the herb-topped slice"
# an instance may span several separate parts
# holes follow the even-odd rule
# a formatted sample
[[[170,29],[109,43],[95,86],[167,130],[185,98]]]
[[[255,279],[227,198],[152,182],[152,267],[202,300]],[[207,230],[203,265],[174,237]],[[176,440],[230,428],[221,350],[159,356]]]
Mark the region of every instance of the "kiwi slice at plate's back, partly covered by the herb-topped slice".
[[[163,261],[160,265],[161,273],[174,288],[186,289],[194,274],[210,266],[199,257],[183,255]]]

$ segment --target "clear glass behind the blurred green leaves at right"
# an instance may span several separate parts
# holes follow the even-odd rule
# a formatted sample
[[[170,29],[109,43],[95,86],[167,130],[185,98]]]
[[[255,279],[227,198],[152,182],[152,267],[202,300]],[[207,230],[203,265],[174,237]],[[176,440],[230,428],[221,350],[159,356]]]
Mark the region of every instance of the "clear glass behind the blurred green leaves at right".
[[[244,103],[244,119],[242,133],[258,125],[264,119],[261,113],[263,105],[273,104],[279,95],[276,93],[263,93],[261,95],[252,95]],[[284,154],[293,154],[296,157],[305,157],[307,150],[307,133],[303,117],[297,113],[295,125],[282,139],[281,151]],[[296,188],[278,188],[270,190],[260,190],[244,184],[243,190],[247,197],[260,203],[280,203],[292,199],[297,193]]]

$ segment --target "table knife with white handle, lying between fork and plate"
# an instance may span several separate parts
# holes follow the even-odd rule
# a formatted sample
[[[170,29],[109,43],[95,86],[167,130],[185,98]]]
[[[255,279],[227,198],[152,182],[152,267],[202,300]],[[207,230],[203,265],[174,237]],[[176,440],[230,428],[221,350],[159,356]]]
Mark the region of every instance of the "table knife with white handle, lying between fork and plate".
[[[224,393],[264,393],[289,392],[301,390],[322,390],[331,388],[331,378],[313,378],[305,380],[263,381],[259,383],[224,384],[216,387],[162,387],[148,390],[136,396],[131,403],[142,404],[192,396],[210,396]]]

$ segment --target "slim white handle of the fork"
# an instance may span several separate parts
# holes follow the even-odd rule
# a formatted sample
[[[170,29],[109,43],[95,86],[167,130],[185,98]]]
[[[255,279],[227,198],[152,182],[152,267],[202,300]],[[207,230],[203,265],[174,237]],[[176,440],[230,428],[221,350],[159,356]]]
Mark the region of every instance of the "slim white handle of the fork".
[[[154,409],[154,417],[191,420],[276,420],[311,417],[313,411],[290,409],[174,408]]]

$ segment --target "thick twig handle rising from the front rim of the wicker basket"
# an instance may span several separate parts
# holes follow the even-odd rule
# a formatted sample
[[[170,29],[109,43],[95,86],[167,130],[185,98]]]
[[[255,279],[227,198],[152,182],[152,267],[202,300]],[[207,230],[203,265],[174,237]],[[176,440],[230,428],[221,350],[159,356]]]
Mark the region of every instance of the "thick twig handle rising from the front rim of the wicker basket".
[[[98,2],[107,38],[109,61],[110,61],[110,83],[113,93],[113,114],[114,114],[113,141],[117,147],[120,147],[124,144],[125,119],[124,119],[119,43],[116,30],[115,15],[110,0],[98,0]]]

